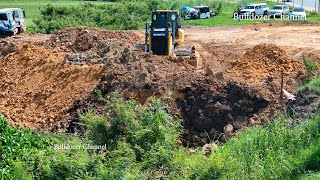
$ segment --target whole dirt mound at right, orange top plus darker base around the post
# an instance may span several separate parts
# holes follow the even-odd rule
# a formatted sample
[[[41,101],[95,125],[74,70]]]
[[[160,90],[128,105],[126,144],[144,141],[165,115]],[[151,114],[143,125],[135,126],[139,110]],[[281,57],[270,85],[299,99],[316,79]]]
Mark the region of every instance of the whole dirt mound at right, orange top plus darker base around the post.
[[[284,88],[293,92],[305,80],[303,61],[294,60],[275,45],[260,44],[228,65],[226,73],[233,80],[254,86],[268,101],[278,101],[281,72]]]

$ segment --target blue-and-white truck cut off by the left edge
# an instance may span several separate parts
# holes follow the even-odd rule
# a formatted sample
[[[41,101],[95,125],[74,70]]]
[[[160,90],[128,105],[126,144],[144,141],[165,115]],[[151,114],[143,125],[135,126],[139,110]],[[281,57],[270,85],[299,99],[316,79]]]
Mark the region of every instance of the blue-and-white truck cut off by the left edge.
[[[2,23],[1,32],[12,31],[18,33],[17,22],[14,20],[13,11],[10,9],[0,9],[0,23]],[[5,33],[7,34],[7,33]],[[3,34],[2,34],[3,35]]]

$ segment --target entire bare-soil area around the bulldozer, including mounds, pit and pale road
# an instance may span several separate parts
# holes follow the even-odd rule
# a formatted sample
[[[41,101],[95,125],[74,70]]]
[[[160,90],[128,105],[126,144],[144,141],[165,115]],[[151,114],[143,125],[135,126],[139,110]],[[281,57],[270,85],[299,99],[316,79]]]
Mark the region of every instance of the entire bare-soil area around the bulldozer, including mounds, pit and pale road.
[[[12,125],[74,132],[79,111],[95,107],[103,113],[96,90],[104,97],[120,92],[142,104],[155,96],[184,119],[183,143],[203,145],[217,140],[227,125],[236,131],[279,109],[281,72],[284,88],[294,93],[306,78],[302,56],[320,58],[317,29],[187,27],[186,40],[203,59],[200,70],[134,51],[134,44],[144,42],[143,31],[77,27],[7,38],[0,42],[0,112]]]

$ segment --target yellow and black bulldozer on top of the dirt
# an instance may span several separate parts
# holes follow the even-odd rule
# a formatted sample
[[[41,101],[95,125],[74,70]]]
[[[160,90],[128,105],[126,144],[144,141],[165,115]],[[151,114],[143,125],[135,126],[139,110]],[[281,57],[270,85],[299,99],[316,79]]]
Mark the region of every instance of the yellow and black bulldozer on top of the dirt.
[[[149,28],[146,23],[145,52],[170,57],[176,61],[184,61],[195,68],[199,67],[199,56],[195,47],[184,43],[184,31],[181,29],[179,12],[176,10],[156,10],[152,12]]]

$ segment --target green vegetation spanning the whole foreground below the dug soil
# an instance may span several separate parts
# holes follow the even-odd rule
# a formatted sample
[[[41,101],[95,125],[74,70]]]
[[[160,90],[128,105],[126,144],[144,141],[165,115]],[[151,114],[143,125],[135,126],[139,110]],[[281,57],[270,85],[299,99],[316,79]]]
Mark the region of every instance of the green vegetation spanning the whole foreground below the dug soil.
[[[311,90],[319,80],[310,81]],[[302,124],[286,115],[246,128],[209,158],[176,144],[182,127],[159,100],[144,106],[119,95],[103,115],[81,115],[81,136],[39,134],[0,118],[1,179],[317,179],[320,112]],[[59,149],[61,145],[79,147]],[[85,149],[82,145],[105,149]],[[57,146],[57,145],[60,145]]]

